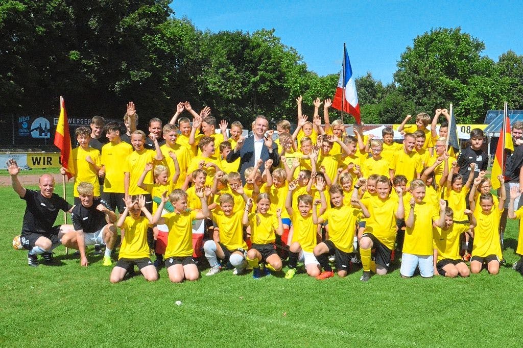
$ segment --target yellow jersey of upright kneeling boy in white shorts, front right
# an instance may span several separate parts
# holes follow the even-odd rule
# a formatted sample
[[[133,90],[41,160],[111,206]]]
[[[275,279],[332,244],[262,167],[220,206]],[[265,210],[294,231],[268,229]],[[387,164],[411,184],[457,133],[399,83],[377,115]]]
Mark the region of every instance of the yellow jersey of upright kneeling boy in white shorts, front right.
[[[414,255],[432,255],[434,253],[432,223],[439,218],[439,211],[434,205],[422,202],[414,204],[414,212],[405,208],[405,221],[414,214],[414,225],[406,227],[403,252]]]

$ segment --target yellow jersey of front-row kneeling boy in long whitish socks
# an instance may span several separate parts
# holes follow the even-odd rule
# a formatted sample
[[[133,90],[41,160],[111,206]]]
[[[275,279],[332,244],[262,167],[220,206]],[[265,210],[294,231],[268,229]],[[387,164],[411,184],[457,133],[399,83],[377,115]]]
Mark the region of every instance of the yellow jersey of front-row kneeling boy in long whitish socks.
[[[212,221],[218,225],[220,230],[220,243],[230,251],[247,249],[247,243],[243,240],[242,216],[243,210],[237,211],[231,216],[226,216],[220,209],[212,213]]]

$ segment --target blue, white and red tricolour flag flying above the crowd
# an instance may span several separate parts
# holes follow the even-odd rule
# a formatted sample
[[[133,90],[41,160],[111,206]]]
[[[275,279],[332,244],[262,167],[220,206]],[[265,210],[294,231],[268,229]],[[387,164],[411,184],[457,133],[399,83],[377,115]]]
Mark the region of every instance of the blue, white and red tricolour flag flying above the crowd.
[[[342,73],[339,74],[338,87],[336,88],[332,107],[340,111],[343,109],[344,112],[354,116],[357,124],[361,124],[358,93],[356,92],[355,77],[353,69],[350,67],[347,48],[345,48]]]

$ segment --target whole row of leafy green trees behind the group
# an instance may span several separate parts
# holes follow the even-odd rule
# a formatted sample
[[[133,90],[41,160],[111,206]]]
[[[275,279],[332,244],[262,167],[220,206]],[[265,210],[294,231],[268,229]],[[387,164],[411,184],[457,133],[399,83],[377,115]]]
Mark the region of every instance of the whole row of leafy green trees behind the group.
[[[339,72],[319,76],[274,30],[201,31],[165,0],[10,0],[0,4],[0,110],[53,114],[63,95],[71,116],[120,118],[133,100],[141,118],[165,120],[178,101],[210,106],[219,119],[248,124],[256,114],[295,118],[332,98]],[[383,85],[353,67],[362,120],[399,123],[407,113],[453,102],[459,123],[481,122],[503,101],[523,105],[523,56],[495,62],[458,28],[417,36]]]

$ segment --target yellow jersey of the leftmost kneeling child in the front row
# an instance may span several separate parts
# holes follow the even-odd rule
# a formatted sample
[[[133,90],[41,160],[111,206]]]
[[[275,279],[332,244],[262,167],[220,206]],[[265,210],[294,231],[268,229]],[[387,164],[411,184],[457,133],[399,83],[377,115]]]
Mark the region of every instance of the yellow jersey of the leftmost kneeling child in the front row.
[[[134,219],[127,216],[123,221],[122,229],[125,230],[122,239],[122,246],[118,253],[118,260],[140,259],[149,257],[149,245],[147,245],[147,228],[149,220],[144,216]]]

